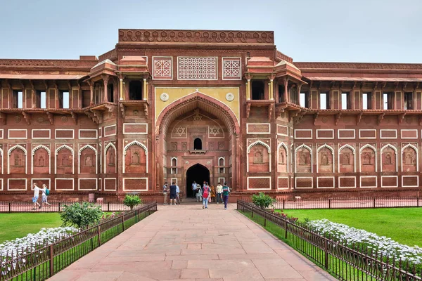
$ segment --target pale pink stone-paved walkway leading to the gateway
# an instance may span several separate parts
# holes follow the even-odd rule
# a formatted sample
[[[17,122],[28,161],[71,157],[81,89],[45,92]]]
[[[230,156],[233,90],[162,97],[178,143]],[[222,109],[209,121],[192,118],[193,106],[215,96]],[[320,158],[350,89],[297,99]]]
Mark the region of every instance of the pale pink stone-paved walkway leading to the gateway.
[[[235,207],[160,206],[50,280],[335,280]]]

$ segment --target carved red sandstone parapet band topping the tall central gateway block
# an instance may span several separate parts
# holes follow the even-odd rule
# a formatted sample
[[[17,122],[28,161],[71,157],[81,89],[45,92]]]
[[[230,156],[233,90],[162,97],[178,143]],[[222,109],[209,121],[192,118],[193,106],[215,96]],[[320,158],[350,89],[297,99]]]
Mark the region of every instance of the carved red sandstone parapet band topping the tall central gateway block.
[[[224,30],[119,30],[119,43],[274,44],[274,32]]]

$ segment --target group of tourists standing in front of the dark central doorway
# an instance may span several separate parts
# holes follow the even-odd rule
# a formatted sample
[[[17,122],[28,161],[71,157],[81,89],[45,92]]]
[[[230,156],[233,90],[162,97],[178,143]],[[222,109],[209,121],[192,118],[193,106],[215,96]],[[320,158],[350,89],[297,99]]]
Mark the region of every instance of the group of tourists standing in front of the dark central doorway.
[[[196,202],[203,203],[203,209],[208,209],[208,203],[211,202],[224,202],[224,209],[227,209],[227,202],[229,202],[230,188],[227,186],[227,183],[224,183],[224,186],[221,183],[218,183],[216,187],[214,185],[209,185],[207,181],[203,182],[201,186],[200,183],[193,181],[192,183],[193,196],[196,197]],[[170,193],[170,205],[174,203],[180,204],[180,188],[179,185],[172,182],[170,187],[168,183],[165,182],[162,187],[162,194],[164,195],[164,204],[167,205],[167,197]]]

